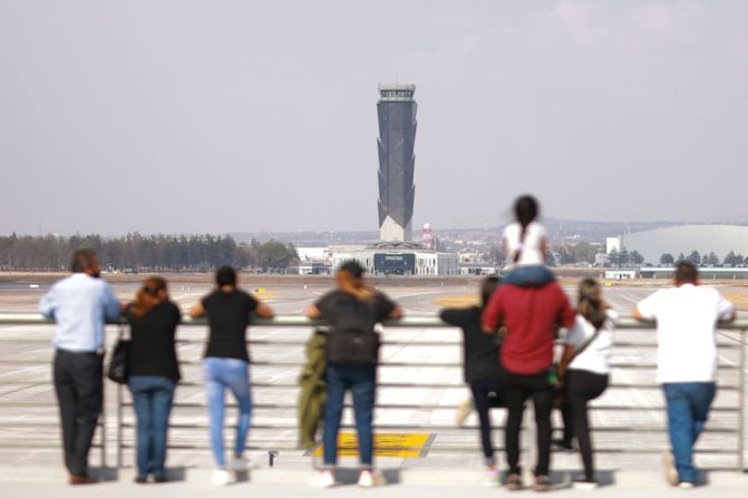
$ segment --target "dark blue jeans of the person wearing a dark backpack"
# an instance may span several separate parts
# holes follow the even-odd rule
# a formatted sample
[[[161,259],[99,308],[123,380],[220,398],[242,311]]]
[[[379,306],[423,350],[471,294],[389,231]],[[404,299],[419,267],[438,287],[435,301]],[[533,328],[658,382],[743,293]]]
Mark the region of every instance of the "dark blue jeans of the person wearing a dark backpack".
[[[338,461],[338,430],[343,411],[343,398],[350,389],[353,396],[353,414],[359,436],[359,457],[361,467],[371,467],[373,460],[373,431],[371,429],[375,389],[377,383],[376,365],[344,365],[328,363],[328,402],[324,408],[324,465],[334,466]]]

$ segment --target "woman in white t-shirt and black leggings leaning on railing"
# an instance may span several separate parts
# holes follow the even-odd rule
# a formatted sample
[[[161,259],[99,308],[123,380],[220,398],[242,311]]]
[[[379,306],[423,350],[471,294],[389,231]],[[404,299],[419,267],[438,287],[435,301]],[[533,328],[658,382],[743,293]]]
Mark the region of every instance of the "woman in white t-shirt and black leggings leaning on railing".
[[[608,387],[615,312],[603,301],[600,284],[593,279],[580,282],[576,311],[574,326],[569,330],[564,341],[558,377],[564,380],[566,388],[564,432],[576,437],[584,465],[584,479],[575,482],[575,487],[593,488],[598,482],[592,460],[587,402],[602,394]]]

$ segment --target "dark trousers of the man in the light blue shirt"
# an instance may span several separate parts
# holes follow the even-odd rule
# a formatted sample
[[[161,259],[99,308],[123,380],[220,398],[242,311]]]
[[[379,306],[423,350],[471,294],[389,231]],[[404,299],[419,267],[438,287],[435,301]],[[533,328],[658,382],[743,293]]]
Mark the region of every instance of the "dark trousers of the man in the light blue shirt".
[[[104,401],[103,358],[97,353],[57,350],[52,371],[65,466],[71,475],[86,476],[88,451]]]

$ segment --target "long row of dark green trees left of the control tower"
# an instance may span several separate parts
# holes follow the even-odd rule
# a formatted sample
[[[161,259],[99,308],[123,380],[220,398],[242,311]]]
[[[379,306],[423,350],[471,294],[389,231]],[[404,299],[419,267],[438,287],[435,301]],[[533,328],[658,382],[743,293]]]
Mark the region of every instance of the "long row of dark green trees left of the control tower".
[[[278,241],[236,243],[225,235],[140,235],[105,238],[100,235],[0,236],[1,271],[65,271],[70,255],[90,248],[106,271],[208,272],[221,265],[264,271],[298,264],[293,244]]]

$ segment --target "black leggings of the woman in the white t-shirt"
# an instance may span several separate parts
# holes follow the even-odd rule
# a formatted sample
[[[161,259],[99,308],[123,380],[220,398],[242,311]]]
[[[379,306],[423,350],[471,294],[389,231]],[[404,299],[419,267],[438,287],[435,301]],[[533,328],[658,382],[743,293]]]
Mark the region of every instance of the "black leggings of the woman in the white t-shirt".
[[[576,436],[584,465],[584,477],[587,480],[594,479],[587,401],[602,394],[606,387],[608,375],[586,370],[570,369],[566,372],[566,403],[562,408],[564,434]]]

